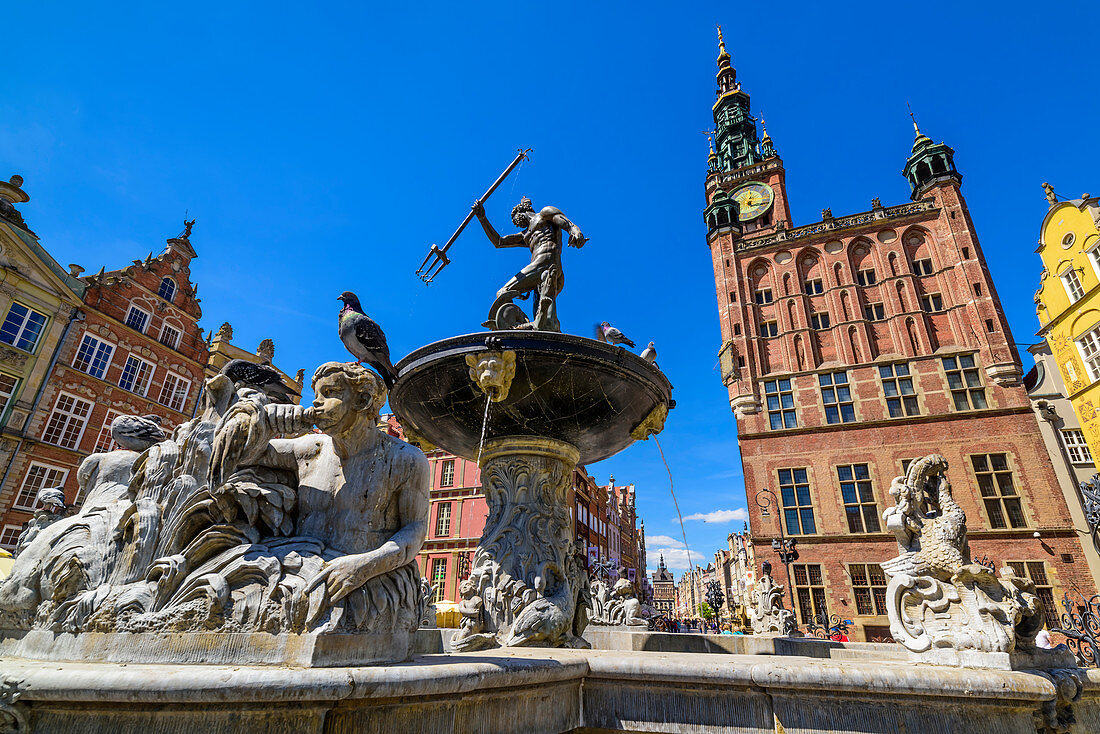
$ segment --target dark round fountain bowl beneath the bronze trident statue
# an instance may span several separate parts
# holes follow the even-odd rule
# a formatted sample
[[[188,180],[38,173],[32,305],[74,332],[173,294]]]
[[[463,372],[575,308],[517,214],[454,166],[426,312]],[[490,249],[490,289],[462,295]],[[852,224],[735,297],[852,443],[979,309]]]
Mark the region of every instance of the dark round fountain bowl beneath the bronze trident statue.
[[[614,456],[649,414],[674,407],[672,384],[657,366],[622,347],[552,331],[468,333],[421,347],[397,363],[389,405],[402,424],[431,443],[477,457],[485,394],[468,354],[510,350],[516,376],[490,407],[485,439],[552,438],[574,446],[581,463]]]

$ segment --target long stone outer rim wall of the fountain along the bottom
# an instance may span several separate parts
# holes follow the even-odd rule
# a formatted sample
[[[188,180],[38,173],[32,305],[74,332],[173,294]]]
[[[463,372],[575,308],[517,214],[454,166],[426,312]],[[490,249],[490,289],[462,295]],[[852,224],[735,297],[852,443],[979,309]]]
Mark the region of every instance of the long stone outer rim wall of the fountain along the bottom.
[[[294,670],[0,659],[0,717],[18,712],[35,734],[1033,734],[1057,700],[1032,672],[734,654],[517,648]],[[1069,734],[1100,731],[1100,671],[1080,676]]]

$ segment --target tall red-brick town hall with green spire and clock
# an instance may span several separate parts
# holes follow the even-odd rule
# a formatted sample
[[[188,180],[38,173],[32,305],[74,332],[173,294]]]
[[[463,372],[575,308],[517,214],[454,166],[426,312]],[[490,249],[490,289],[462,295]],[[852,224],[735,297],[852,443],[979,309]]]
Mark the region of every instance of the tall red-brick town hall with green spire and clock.
[[[717,83],[704,218],[757,560],[796,537],[790,578],[774,574],[799,623],[835,614],[853,639],[889,638],[890,482],[942,453],[974,558],[1034,580],[1055,626],[1063,592],[1094,584],[954,151],[917,130],[911,202],[794,227],[783,162],[721,35]]]

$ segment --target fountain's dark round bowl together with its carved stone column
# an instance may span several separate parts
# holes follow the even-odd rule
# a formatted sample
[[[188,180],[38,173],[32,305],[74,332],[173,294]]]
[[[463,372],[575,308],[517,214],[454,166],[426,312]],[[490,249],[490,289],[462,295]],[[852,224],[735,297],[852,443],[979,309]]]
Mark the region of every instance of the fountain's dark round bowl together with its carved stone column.
[[[668,379],[622,347],[522,330],[428,344],[397,369],[389,403],[406,432],[480,458],[488,502],[452,649],[586,647],[572,473],[660,432],[674,406]]]

